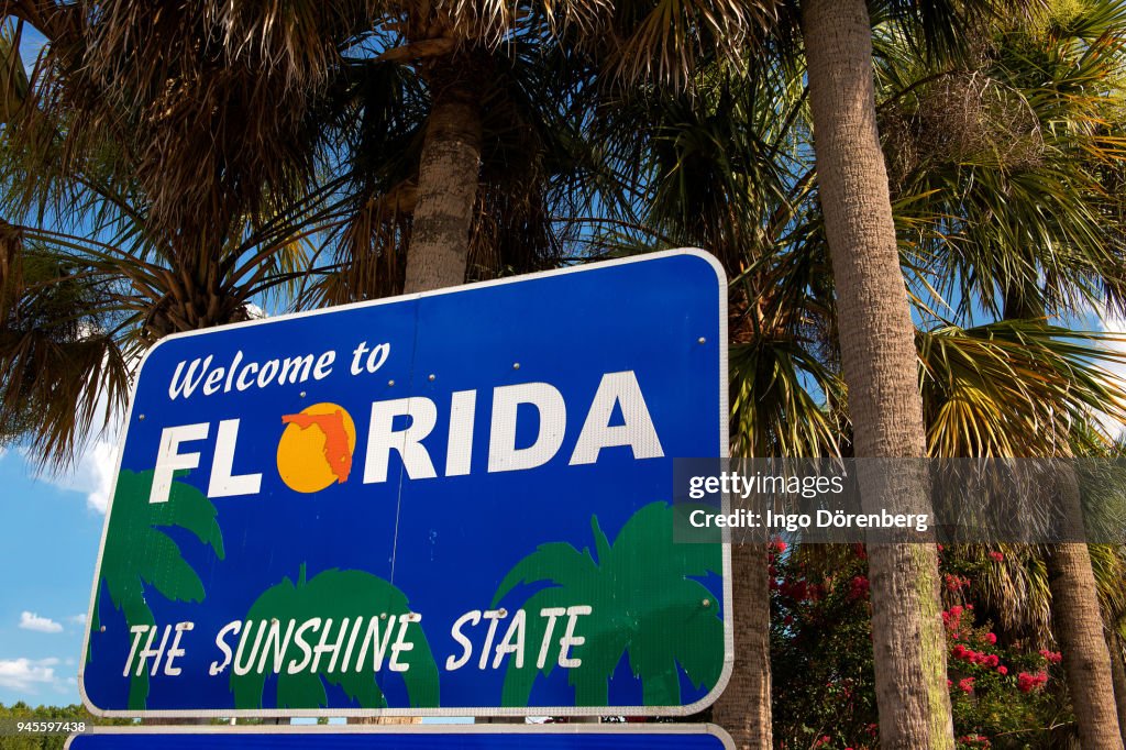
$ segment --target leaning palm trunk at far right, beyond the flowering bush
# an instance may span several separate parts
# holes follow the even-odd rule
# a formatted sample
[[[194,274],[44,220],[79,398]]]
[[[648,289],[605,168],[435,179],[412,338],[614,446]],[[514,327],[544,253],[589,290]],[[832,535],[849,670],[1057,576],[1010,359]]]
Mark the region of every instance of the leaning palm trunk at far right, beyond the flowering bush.
[[[1085,544],[1053,545],[1047,555],[1052,624],[1084,750],[1123,750],[1110,653]]]

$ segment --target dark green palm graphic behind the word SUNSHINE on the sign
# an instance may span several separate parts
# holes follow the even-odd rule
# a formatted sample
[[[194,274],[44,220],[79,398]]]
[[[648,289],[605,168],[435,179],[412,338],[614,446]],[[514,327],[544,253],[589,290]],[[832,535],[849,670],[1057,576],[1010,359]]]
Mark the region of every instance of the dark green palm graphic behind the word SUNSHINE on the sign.
[[[357,617],[364,617],[364,630],[369,618],[381,618],[384,627],[393,626],[399,615],[411,611],[406,595],[388,581],[359,570],[338,570],[336,568],[321,572],[312,580],[305,579],[305,565],[301,566],[297,582],[285,578],[277,586],[267,589],[247,613],[247,620],[261,624],[263,620],[278,619],[282,623],[297,623],[329,618],[340,627],[345,618],[355,623]],[[261,627],[261,625],[259,625]],[[361,632],[363,635],[363,632]],[[430,644],[419,624],[410,624],[403,637],[413,649],[404,651],[399,661],[408,666],[400,672],[406,684],[406,693],[412,707],[439,705],[438,664],[434,660]],[[357,644],[358,648],[358,644]],[[271,654],[272,655],[272,654]],[[284,664],[292,660],[301,661],[300,646],[291,641],[285,649]],[[270,660],[267,659],[267,663]],[[383,670],[387,666],[384,662]],[[231,689],[234,693],[236,708],[261,708],[266,690],[266,672],[250,670],[245,675],[231,672]],[[272,672],[271,672],[272,673]],[[348,669],[329,672],[327,669],[301,671],[289,675],[283,669],[277,676],[278,708],[315,708],[328,706],[328,695],[324,684],[336,685],[343,689],[349,698],[358,702],[364,708],[386,708],[387,700],[376,682],[376,675],[370,667],[363,671]]]

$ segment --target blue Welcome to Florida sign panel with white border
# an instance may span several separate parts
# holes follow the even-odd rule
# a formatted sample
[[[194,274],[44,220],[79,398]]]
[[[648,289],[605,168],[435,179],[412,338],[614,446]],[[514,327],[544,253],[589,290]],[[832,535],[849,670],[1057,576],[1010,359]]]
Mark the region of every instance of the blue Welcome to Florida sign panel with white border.
[[[727,557],[726,288],[673,251],[169,337],[142,363],[80,686],[104,715],[688,714]]]

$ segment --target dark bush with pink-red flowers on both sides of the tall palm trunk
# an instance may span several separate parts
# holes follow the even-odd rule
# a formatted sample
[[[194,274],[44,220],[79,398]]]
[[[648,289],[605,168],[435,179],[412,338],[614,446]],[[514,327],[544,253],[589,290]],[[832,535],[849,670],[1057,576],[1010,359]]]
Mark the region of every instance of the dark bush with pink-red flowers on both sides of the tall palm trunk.
[[[958,747],[1055,747],[1073,730],[1060,654],[997,630],[981,581],[1010,564],[978,547],[940,554],[948,684]],[[863,545],[774,545],[770,659],[775,741],[876,748],[867,555]]]

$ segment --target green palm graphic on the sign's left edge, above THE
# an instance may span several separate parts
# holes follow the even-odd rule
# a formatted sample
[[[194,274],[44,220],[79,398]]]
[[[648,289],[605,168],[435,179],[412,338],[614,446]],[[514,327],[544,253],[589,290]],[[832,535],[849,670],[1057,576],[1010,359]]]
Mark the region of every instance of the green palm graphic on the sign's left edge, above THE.
[[[199,575],[162,528],[186,529],[209,546],[216,557],[224,557],[215,506],[203,492],[178,481],[172,482],[168,502],[149,502],[152,474],[122,470],[117,476],[106,538],[122,542],[106,545],[101,559],[99,590],[104,583],[114,607],[125,615],[126,627],[157,624],[145,601],[146,584],[172,601],[203,601],[206,593]],[[186,474],[177,472],[176,476]],[[98,607],[95,598],[91,633],[101,630]],[[91,644],[87,661],[92,653]],[[143,711],[148,699],[149,671],[134,671],[129,677],[129,711]]]

